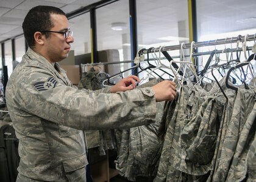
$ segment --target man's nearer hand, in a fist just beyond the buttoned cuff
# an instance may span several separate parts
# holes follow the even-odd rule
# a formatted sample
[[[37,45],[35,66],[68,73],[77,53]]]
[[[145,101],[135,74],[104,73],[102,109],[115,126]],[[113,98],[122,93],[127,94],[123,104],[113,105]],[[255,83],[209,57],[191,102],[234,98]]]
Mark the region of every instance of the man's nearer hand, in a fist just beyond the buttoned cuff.
[[[169,80],[162,81],[153,86],[152,89],[155,91],[156,101],[172,101],[176,96],[175,86],[176,84]]]

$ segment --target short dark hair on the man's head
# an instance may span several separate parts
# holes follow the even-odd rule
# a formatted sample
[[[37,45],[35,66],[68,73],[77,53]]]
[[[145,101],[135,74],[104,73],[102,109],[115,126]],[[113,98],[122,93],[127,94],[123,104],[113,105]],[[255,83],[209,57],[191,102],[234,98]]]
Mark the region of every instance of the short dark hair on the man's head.
[[[30,48],[33,48],[35,45],[35,32],[40,30],[50,30],[54,27],[54,24],[51,21],[51,14],[66,16],[60,8],[48,5],[38,5],[30,9],[29,13],[27,13],[22,27],[27,45],[29,45]],[[48,37],[48,33],[45,32],[45,34],[46,37]]]

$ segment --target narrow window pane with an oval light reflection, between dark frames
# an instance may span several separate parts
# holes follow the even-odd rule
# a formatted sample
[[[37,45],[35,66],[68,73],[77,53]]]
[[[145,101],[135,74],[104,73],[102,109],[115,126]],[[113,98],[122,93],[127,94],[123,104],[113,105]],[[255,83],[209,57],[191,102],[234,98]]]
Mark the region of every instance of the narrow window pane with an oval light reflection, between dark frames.
[[[129,1],[117,1],[96,9],[96,29],[98,51],[108,50],[108,56],[99,56],[99,62],[131,60]],[[113,75],[127,69],[131,63],[105,66]],[[124,77],[130,75],[124,73]]]

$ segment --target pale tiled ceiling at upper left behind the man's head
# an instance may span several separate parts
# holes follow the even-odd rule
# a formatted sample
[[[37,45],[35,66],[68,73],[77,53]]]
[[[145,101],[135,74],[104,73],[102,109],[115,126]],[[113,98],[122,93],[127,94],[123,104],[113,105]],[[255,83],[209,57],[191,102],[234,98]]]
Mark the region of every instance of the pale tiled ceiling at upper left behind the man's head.
[[[1,0],[0,1],[0,42],[23,33],[22,23],[30,8],[37,5],[52,5],[61,8],[65,13],[99,0]]]

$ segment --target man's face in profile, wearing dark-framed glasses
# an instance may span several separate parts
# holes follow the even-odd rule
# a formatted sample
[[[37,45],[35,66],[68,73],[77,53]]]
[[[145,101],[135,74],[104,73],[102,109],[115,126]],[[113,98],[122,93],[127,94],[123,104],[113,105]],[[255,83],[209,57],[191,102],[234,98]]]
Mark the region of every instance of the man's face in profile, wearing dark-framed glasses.
[[[51,31],[67,32],[69,30],[68,19],[64,15],[51,14],[54,27]],[[48,61],[59,62],[68,56],[71,49],[70,43],[74,42],[71,35],[65,38],[63,33],[49,32],[49,37],[45,41],[45,53]]]

